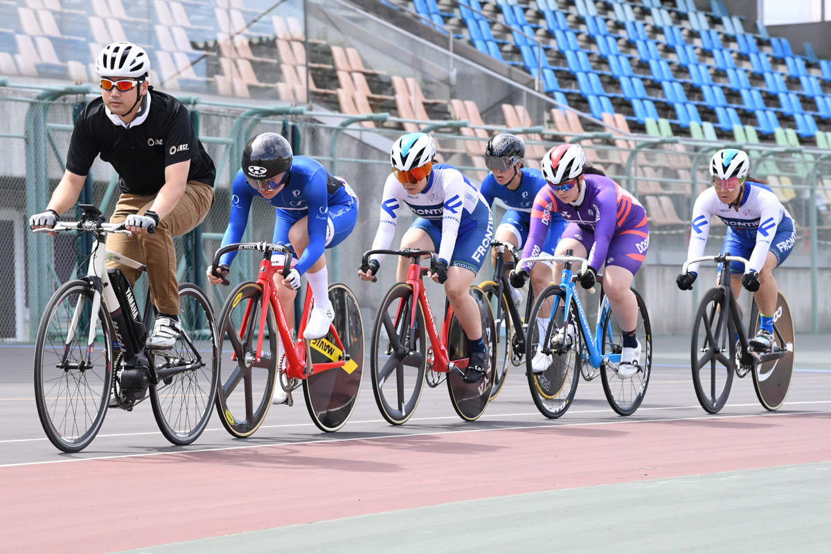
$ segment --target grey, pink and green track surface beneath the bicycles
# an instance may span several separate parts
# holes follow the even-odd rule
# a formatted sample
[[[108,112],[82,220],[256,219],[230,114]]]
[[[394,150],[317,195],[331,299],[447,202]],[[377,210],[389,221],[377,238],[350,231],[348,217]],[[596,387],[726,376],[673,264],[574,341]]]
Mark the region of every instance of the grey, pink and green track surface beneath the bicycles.
[[[174,448],[149,403],[111,410],[79,454],[49,444],[32,399],[32,348],[0,346],[0,525],[5,552],[827,552],[831,363],[797,338],[783,409],[748,376],[718,416],[698,406],[689,339],[656,337],[637,413],[583,382],[561,419],[534,408],[515,368],[479,421],[445,386],[391,427],[368,375],[352,420],[321,434],[302,400],[273,406],[252,439],[214,418]]]

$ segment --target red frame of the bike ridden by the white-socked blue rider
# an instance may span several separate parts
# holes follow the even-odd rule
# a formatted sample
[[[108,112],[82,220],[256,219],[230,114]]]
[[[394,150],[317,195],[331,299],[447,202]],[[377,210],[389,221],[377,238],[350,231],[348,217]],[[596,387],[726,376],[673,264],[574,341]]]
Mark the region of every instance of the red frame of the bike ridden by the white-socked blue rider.
[[[302,319],[300,320],[300,329],[297,331],[297,341],[294,341],[292,338],[292,332],[289,331],[288,328],[288,321],[286,320],[286,314],[283,311],[283,305],[280,302],[280,298],[277,294],[277,289],[273,287],[273,277],[275,275],[282,277],[282,271],[284,266],[276,266],[273,265],[271,262],[270,255],[263,257],[263,261],[260,262],[259,268],[259,277],[257,279],[257,284],[260,287],[263,287],[263,298],[268,298],[268,302],[271,304],[271,307],[274,313],[277,314],[277,330],[280,336],[280,341],[283,343],[285,354],[288,358],[288,368],[286,370],[286,375],[288,375],[291,379],[306,379],[312,373],[320,373],[321,371],[332,370],[335,368],[343,367],[347,364],[347,360],[338,360],[338,361],[327,361],[317,363],[315,365],[311,365],[308,363],[307,360],[307,351],[309,346],[321,346],[319,348],[322,351],[326,350],[325,344],[328,343],[325,338],[314,339],[313,341],[309,341],[309,345],[306,345],[306,342],[300,339],[303,336],[303,331],[306,330],[306,323],[308,321],[309,311],[312,309],[312,289],[307,287],[306,291],[306,299],[303,302],[303,312],[302,312]],[[242,336],[243,331],[245,330],[246,326],[248,326],[248,319],[251,317],[251,313],[253,311],[253,302],[249,301],[248,306],[245,308],[245,314],[243,316],[242,325],[239,327],[239,336]],[[260,357],[263,355],[263,335],[266,326],[266,310],[260,311],[259,316],[259,329],[257,335],[257,351],[256,351],[256,360],[259,361]],[[335,337],[335,342],[337,343],[335,346],[341,351],[344,352],[343,344],[341,342],[341,337],[337,335],[337,331],[335,330],[335,326],[331,323],[329,324],[329,330],[332,332],[332,336]],[[290,345],[286,346],[286,345]],[[309,356],[311,357],[311,356]],[[233,360],[236,360],[236,354],[232,357]]]

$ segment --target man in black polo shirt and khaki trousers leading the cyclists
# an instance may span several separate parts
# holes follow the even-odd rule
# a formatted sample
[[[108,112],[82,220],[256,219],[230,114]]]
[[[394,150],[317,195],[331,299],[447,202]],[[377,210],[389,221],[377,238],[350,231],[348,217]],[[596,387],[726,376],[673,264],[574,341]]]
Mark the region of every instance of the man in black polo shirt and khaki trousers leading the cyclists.
[[[32,228],[53,228],[76,203],[96,156],[118,173],[121,195],[110,223],[125,223],[132,237],[110,234],[106,248],[145,264],[150,298],[159,316],[147,346],[170,349],[181,333],[179,283],[173,238],[196,228],[214,203],[214,162],[196,137],[188,110],[148,85],[150,59],[143,48],[114,42],[96,58],[101,98],[78,115],[66,154],[66,171],[47,210]],[[148,234],[151,233],[151,234]],[[140,270],[106,262],[130,284]]]

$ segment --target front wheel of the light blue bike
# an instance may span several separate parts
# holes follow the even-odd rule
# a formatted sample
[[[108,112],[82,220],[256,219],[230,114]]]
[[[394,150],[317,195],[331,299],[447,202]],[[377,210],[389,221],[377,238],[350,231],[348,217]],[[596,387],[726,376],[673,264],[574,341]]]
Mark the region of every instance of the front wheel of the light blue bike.
[[[572,300],[569,306],[569,326],[574,329],[570,345],[566,349],[555,345],[553,338],[563,328],[563,301],[565,293],[559,285],[550,285],[543,290],[531,309],[528,326],[528,344],[525,350],[526,375],[531,398],[537,409],[547,418],[555,419],[565,414],[571,406],[580,381],[583,334],[578,331],[577,304]],[[543,313],[545,315],[540,316]],[[540,336],[537,318],[544,317],[548,323]],[[531,362],[542,343],[543,352],[548,350],[545,369],[534,373]]]

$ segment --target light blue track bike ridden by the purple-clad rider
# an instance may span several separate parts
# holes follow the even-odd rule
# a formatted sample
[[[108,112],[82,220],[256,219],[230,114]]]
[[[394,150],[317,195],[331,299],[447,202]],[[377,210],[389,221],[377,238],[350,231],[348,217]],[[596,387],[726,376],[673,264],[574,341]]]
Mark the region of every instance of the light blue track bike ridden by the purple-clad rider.
[[[641,405],[652,373],[652,328],[647,306],[641,295],[632,289],[637,298],[636,332],[642,351],[637,373],[622,378],[617,373],[623,348],[621,329],[601,287],[597,326],[592,333],[578,296],[578,274],[572,271],[573,263],[582,264],[585,268],[588,260],[572,254],[573,251],[569,250],[565,256],[527,257],[519,262],[519,267],[525,262],[538,261],[564,264],[561,281],[540,292],[529,317],[525,360],[531,397],[544,416],[558,418],[572,404],[580,374],[585,380],[593,380],[600,375],[603,392],[612,409],[617,414],[631,415]],[[602,276],[597,276],[597,282],[602,285]],[[543,332],[536,325],[537,318],[548,321]],[[531,363],[538,349],[547,356],[548,366],[534,373]]]

